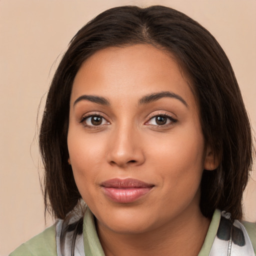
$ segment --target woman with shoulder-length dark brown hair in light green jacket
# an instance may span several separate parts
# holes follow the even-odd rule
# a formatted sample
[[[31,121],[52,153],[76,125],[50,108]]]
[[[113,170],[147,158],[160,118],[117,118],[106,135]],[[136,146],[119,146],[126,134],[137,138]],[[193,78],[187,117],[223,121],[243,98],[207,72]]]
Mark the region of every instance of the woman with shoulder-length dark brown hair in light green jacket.
[[[183,13],[123,6],[82,27],[39,140],[58,220],[11,255],[254,255],[256,227],[237,220],[246,110],[225,53]]]

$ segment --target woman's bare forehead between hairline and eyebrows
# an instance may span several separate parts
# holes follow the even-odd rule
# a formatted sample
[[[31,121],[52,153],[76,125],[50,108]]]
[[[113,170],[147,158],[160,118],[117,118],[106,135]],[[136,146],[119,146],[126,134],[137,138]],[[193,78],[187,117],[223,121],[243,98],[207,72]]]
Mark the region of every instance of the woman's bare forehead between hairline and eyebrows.
[[[157,91],[194,100],[180,66],[166,50],[148,44],[108,47],[82,63],[73,82],[71,101],[81,94],[131,98]]]

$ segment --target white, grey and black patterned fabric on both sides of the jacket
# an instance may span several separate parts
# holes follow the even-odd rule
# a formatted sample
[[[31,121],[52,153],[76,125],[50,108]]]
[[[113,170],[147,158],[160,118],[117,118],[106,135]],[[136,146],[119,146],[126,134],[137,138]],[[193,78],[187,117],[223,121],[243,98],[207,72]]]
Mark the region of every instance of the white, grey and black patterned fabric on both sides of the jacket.
[[[84,207],[80,207],[75,213],[70,213],[64,221],[60,219],[56,222],[58,256],[85,256],[82,233],[85,210]],[[232,223],[230,213],[221,212],[209,256],[255,256],[244,226],[238,220]]]

